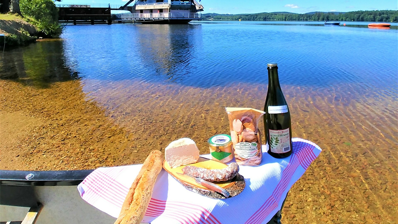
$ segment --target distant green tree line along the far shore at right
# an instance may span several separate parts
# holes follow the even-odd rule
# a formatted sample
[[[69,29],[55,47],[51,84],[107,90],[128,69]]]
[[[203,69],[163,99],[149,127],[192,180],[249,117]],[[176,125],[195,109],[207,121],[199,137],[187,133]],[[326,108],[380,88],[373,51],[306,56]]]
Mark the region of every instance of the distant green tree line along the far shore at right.
[[[244,21],[369,21],[369,22],[398,22],[398,10],[373,10],[373,11],[354,11],[346,13],[316,12],[314,14],[295,14],[263,12],[256,14],[202,14],[203,19],[215,20],[244,20]]]

